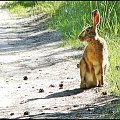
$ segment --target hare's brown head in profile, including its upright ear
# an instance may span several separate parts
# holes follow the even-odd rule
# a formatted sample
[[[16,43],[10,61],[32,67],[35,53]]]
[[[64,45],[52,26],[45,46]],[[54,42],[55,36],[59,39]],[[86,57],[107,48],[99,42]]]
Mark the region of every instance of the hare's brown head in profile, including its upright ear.
[[[97,33],[97,25],[100,22],[100,14],[98,10],[94,10],[92,12],[92,17],[93,17],[93,26],[86,28],[83,30],[78,38],[80,41],[87,41],[88,39],[94,38],[98,33]]]

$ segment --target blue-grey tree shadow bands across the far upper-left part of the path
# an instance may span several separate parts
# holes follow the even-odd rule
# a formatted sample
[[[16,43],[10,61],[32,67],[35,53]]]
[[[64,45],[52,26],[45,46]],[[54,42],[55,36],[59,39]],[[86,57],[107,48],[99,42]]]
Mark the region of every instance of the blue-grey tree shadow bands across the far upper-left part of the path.
[[[31,19],[27,22],[16,22],[12,26],[9,24],[2,26],[0,31],[1,51],[23,51],[61,41],[59,32],[48,29],[48,16],[42,14]]]

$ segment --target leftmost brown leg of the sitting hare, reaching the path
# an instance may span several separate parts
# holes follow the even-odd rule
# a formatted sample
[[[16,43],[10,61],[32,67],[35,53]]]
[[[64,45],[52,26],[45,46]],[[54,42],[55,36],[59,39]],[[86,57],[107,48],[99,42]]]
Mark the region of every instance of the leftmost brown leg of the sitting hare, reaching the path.
[[[80,68],[80,78],[81,78],[80,88],[86,88],[86,82],[85,82],[86,63],[83,58],[80,61],[79,68]]]

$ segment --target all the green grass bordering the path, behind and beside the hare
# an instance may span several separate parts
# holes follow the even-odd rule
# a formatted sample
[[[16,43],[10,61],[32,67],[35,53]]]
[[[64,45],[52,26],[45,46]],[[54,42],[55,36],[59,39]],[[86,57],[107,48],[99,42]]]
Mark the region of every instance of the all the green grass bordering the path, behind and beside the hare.
[[[15,1],[6,3],[3,8],[12,15],[27,17],[44,12],[51,17],[49,27],[62,33],[63,47],[83,49],[84,44],[77,40],[83,28],[92,24],[91,12],[98,9],[101,22],[99,35],[105,38],[110,67],[107,81],[110,91],[120,95],[120,2],[119,1]]]

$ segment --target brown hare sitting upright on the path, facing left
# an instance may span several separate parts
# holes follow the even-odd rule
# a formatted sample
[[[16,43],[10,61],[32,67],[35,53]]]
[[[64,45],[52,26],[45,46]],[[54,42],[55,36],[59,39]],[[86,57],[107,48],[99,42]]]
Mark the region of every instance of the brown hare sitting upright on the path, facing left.
[[[104,85],[106,68],[108,66],[108,50],[106,41],[99,37],[97,25],[100,22],[98,10],[92,12],[93,26],[83,30],[80,41],[87,42],[83,57],[77,67],[80,68],[80,88],[91,88]]]

